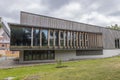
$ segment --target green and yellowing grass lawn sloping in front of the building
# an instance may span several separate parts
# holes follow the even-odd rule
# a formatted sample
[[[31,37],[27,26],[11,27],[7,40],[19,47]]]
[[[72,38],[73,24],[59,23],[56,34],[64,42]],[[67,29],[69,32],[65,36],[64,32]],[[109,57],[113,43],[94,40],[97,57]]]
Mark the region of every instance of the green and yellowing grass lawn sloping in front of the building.
[[[63,62],[63,68],[56,64],[0,69],[0,80],[16,77],[15,80],[120,80],[120,56]],[[28,78],[30,77],[30,79]],[[34,79],[32,79],[34,78]]]

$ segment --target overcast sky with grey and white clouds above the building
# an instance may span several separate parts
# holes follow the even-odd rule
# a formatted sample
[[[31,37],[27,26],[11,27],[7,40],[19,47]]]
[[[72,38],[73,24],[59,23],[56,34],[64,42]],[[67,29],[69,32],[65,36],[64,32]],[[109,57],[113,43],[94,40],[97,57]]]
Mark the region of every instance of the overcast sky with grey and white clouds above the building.
[[[0,0],[0,16],[19,23],[20,11],[99,26],[120,25],[120,0]]]

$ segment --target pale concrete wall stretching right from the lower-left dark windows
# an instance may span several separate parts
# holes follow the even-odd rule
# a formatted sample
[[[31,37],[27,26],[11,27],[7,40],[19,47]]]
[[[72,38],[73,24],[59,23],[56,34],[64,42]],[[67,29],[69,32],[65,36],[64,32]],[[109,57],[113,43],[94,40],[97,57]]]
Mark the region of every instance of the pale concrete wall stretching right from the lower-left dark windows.
[[[75,59],[96,59],[96,58],[107,58],[120,55],[120,49],[104,49],[103,55],[83,55],[76,56],[76,51],[71,52],[56,52],[56,60],[75,60]]]

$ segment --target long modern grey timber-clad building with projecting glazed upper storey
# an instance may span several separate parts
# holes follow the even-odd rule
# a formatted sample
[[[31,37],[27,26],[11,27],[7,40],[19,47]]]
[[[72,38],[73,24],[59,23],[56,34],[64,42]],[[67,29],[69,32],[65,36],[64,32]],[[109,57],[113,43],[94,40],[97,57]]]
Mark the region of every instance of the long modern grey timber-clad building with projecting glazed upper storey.
[[[21,63],[119,54],[118,30],[28,12],[21,12],[20,24],[9,26],[10,50],[20,51]]]

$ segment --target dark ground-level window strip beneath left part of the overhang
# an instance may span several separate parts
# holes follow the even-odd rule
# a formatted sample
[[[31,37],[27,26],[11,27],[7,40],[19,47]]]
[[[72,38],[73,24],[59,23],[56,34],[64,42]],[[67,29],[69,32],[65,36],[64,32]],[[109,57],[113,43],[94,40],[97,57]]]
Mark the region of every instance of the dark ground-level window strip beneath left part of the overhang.
[[[52,50],[25,50],[24,61],[31,60],[52,60],[55,59],[55,53]]]

